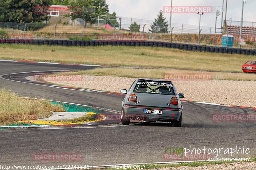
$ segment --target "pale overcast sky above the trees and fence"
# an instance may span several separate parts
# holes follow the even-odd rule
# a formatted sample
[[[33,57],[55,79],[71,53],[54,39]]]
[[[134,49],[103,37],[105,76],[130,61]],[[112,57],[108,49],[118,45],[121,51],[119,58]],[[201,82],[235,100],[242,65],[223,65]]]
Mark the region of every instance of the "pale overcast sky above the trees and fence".
[[[110,13],[117,16],[153,20],[163,6],[171,6],[171,0],[106,0]],[[225,9],[226,0],[224,0]],[[172,6],[219,6],[222,0],[173,0]],[[256,0],[246,0],[244,4],[243,21],[256,22]],[[241,20],[242,0],[228,0],[227,20]],[[169,21],[170,14],[164,14]],[[201,26],[215,26],[215,12],[204,14],[201,17]],[[223,20],[225,11],[223,12]],[[172,14],[172,23],[199,25],[199,16],[196,14]],[[217,27],[220,26],[221,15],[217,18]]]

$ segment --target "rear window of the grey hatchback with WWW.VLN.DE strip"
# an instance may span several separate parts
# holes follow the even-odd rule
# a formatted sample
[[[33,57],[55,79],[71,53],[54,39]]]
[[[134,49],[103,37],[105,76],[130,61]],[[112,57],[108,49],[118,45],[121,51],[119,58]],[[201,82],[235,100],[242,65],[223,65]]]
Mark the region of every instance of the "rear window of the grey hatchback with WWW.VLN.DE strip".
[[[174,95],[172,84],[160,82],[137,82],[133,92]]]

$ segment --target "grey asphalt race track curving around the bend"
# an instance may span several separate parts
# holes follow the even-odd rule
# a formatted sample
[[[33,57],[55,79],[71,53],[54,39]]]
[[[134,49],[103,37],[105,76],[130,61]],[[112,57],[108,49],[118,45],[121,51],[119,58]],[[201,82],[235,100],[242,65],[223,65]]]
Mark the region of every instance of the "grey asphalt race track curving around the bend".
[[[0,62],[0,75],[45,70],[82,70],[90,66]],[[22,96],[44,97],[121,111],[124,96],[83,92],[0,78],[0,87]],[[179,89],[177,89],[179,91]],[[185,94],[186,95],[186,94]],[[239,99],[237,99],[239,100]],[[248,99],[250,100],[250,99]],[[165,148],[250,148],[256,153],[256,123],[213,122],[212,114],[256,114],[255,109],[183,102],[182,127],[168,123],[121,123],[101,126],[0,129],[2,165],[111,165],[164,162]],[[82,153],[82,161],[34,161],[35,153]],[[240,155],[237,157],[246,157]],[[236,156],[235,156],[236,157]],[[221,156],[219,158],[225,158]],[[171,161],[171,160],[169,160]]]

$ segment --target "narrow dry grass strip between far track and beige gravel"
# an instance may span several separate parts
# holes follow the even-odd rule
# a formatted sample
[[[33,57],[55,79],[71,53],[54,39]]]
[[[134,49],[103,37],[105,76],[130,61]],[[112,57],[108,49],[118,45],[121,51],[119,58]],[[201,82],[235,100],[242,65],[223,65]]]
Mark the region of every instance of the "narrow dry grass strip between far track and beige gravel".
[[[91,70],[79,70],[65,73],[50,74],[54,76],[66,75],[91,75],[91,76],[117,76],[129,78],[157,78],[164,79],[165,74],[211,74],[212,79],[220,80],[256,80],[256,74],[246,73],[227,73],[227,72],[206,72],[206,71],[192,71],[192,70],[175,70],[175,69],[130,69],[130,68],[95,68]],[[170,78],[170,76],[168,76]]]

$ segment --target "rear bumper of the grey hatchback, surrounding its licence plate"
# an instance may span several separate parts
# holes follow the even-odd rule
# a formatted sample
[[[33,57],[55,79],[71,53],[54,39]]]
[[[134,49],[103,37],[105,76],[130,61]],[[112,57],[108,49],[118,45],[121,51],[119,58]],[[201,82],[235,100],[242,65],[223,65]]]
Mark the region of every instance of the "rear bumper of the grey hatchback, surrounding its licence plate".
[[[144,113],[144,109],[162,110],[162,115]],[[168,107],[147,107],[137,105],[124,105],[127,119],[143,118],[144,121],[177,122],[180,120],[182,109]]]

